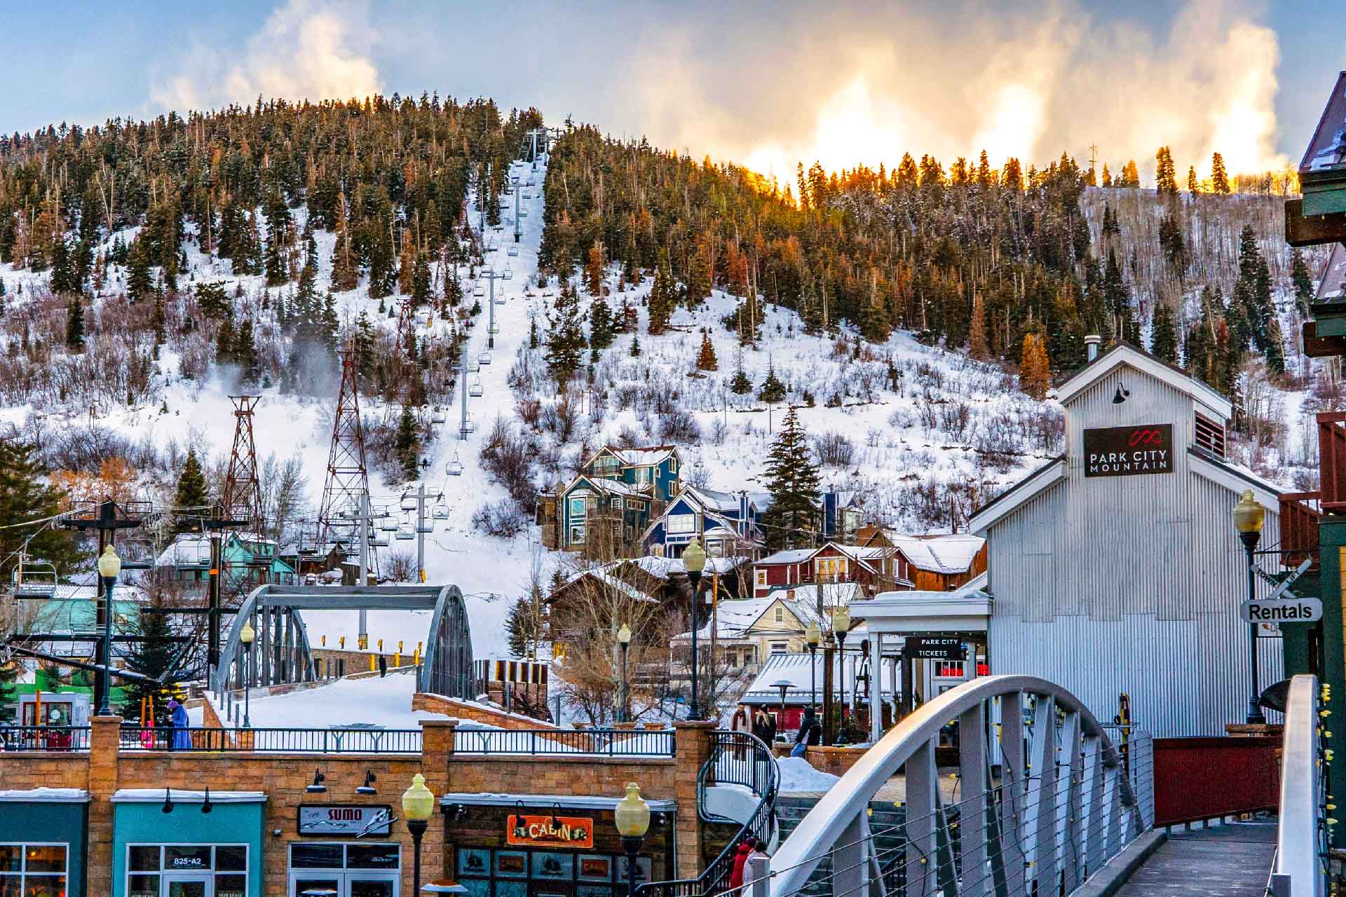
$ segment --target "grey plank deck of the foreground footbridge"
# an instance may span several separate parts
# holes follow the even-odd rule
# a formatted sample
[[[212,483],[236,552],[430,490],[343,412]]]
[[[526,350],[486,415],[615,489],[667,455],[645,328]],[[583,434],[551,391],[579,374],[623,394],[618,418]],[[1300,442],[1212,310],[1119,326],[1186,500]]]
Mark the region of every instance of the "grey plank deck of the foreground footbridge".
[[[1275,818],[1174,828],[1117,897],[1263,897],[1275,853]]]

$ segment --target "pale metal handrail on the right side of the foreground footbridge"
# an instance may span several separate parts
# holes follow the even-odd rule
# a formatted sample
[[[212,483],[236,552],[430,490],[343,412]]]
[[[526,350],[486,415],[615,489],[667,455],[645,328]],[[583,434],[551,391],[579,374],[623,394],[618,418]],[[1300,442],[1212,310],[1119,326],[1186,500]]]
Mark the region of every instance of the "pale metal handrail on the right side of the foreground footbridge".
[[[1289,680],[1285,699],[1285,741],[1280,765],[1280,822],[1276,830],[1276,863],[1272,893],[1284,897],[1323,897],[1327,870],[1327,826],[1323,819],[1323,764],[1319,738],[1318,678],[1298,675]],[[1279,881],[1277,881],[1279,880]]]

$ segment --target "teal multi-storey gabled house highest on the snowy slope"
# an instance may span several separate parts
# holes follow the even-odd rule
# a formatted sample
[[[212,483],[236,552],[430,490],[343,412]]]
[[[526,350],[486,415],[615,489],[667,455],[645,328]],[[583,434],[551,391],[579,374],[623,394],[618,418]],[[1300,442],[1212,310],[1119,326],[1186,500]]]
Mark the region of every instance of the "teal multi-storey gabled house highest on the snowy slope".
[[[579,550],[595,541],[634,543],[677,494],[678,476],[680,459],[672,445],[599,449],[555,499],[540,500],[544,545]],[[545,527],[553,520],[556,529],[548,534]]]

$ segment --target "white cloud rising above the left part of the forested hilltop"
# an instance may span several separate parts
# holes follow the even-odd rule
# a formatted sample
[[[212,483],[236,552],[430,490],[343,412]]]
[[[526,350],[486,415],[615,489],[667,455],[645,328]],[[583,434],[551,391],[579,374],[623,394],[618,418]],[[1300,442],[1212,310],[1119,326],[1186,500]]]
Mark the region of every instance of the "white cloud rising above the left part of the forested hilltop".
[[[238,54],[197,40],[172,74],[153,79],[159,109],[209,109],[285,100],[345,100],[381,87],[373,50],[378,35],[362,3],[288,0]]]

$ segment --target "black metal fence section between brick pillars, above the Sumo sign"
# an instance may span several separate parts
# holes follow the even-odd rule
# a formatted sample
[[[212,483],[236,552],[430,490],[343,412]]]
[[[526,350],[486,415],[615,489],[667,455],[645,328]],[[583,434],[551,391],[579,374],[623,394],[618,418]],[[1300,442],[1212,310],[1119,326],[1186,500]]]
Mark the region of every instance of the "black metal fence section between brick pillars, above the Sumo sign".
[[[420,753],[420,729],[174,729],[122,726],[121,750]]]

